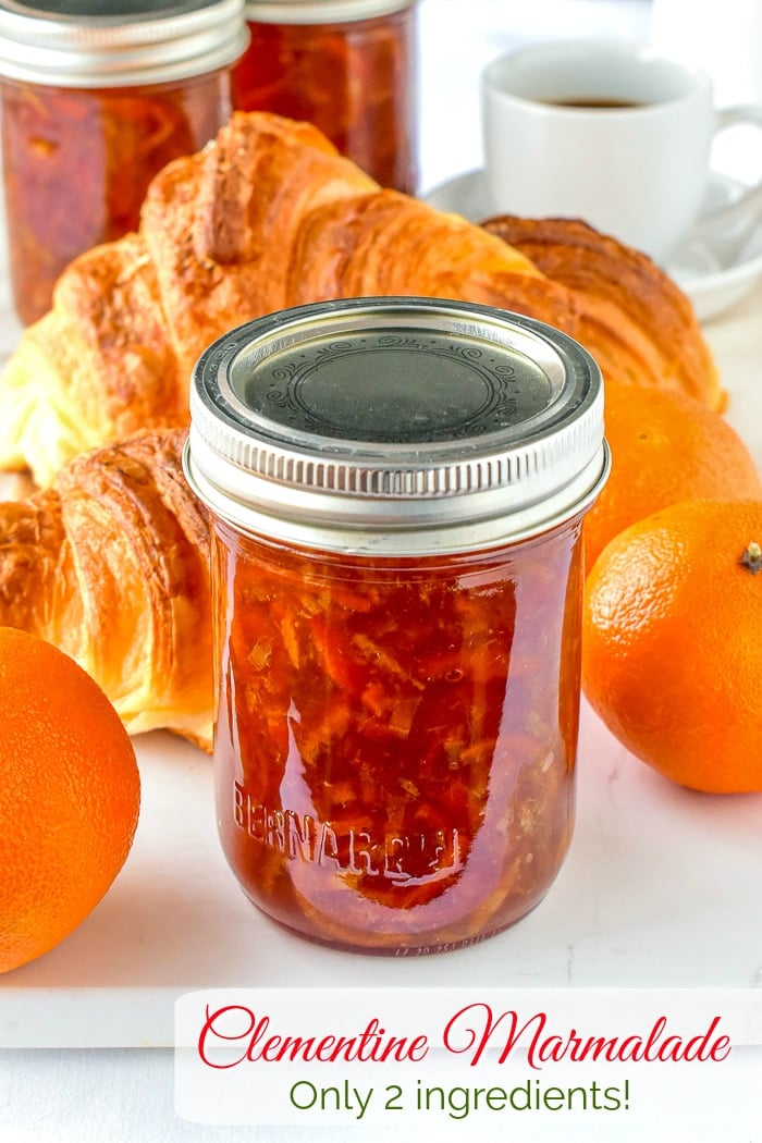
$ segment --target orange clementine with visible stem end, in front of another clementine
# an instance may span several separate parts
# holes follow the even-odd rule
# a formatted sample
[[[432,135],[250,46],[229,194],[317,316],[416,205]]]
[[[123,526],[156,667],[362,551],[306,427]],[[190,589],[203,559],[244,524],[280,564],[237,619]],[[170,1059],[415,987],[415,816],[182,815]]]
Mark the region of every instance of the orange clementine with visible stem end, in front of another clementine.
[[[632,525],[585,586],[583,687],[666,777],[762,791],[762,503],[684,501]]]

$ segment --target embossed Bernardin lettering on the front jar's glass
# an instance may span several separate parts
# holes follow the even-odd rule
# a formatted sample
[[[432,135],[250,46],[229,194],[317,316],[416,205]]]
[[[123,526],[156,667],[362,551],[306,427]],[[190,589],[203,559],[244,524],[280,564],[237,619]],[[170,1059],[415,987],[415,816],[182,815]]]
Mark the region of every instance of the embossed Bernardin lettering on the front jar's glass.
[[[451,876],[463,868],[457,830],[371,838],[366,830],[339,828],[311,814],[263,806],[238,782],[233,786],[233,816],[240,829],[268,849],[291,861],[347,873],[410,885]]]

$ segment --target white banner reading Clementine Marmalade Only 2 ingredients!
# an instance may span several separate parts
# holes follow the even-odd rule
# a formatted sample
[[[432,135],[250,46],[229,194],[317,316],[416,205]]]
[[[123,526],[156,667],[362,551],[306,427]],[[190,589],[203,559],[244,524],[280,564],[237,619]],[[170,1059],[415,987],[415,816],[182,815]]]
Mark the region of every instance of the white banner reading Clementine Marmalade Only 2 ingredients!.
[[[762,1122],[756,990],[226,989],[175,1023],[198,1122],[723,1143]]]

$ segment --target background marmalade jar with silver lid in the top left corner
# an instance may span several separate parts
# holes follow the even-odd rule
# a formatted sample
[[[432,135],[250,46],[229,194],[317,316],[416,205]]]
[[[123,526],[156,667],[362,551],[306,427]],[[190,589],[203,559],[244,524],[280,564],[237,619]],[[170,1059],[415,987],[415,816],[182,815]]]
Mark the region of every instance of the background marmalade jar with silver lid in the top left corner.
[[[10,274],[19,318],[69,262],[135,230],[153,176],[217,134],[243,0],[0,0]]]

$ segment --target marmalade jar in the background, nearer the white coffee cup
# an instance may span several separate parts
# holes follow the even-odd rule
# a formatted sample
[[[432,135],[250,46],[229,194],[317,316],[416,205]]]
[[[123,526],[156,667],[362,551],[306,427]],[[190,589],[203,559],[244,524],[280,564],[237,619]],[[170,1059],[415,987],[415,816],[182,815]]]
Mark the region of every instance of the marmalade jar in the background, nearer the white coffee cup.
[[[415,0],[267,0],[246,6],[233,73],[242,111],[306,119],[382,186],[417,182]]]

